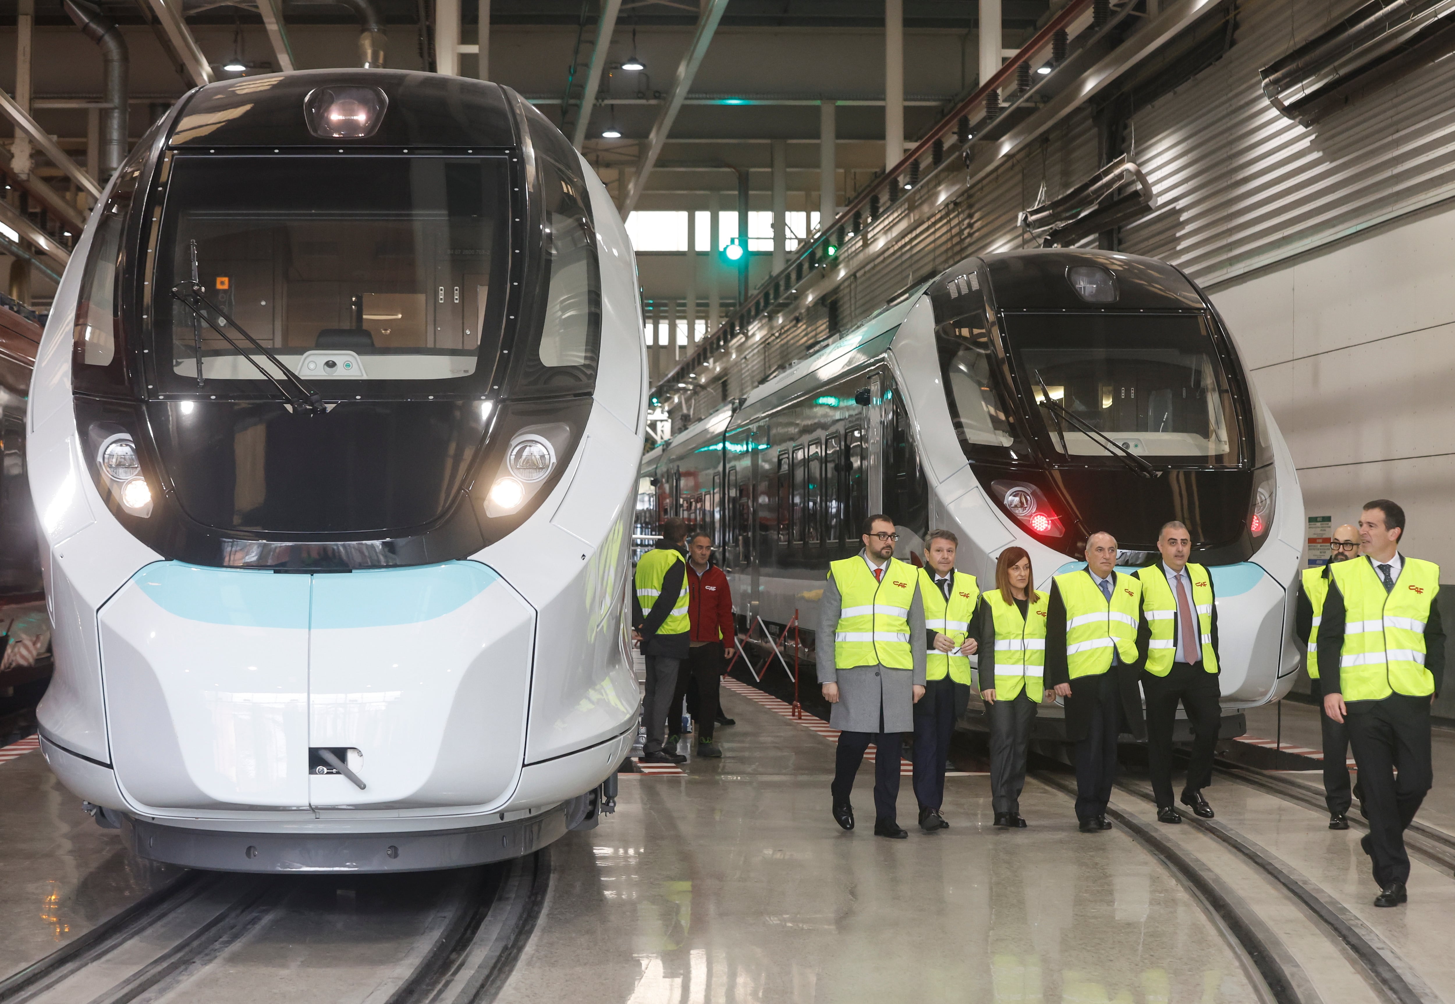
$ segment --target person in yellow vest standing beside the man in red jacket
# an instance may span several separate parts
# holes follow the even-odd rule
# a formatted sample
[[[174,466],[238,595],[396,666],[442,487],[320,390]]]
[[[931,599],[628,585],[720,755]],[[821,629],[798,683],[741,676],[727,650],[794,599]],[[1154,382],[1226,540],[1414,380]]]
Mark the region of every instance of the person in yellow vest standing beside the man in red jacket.
[[[682,540],[687,522],[671,518],[662,522],[662,540],[637,562],[636,591],[631,598],[633,634],[646,656],[646,744],[645,764],[681,764],[687,760],[675,749],[665,749],[666,716],[672,713],[677,674],[688,655],[688,602],[684,585],[687,559]],[[643,613],[645,611],[645,613]]]

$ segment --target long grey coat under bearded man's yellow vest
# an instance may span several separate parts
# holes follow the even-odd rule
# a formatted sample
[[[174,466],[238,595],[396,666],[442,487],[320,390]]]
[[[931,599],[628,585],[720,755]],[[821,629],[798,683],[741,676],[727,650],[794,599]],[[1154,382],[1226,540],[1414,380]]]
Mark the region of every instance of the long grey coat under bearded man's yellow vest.
[[[858,553],[863,557],[863,551]],[[834,665],[834,634],[842,598],[829,575],[819,601],[818,675],[821,684],[838,684],[838,704],[831,706],[828,723],[842,732],[914,732],[914,684],[924,685],[924,599],[915,575],[914,601],[909,605],[909,652],[914,669],[885,666]],[[882,722],[882,725],[880,725]]]

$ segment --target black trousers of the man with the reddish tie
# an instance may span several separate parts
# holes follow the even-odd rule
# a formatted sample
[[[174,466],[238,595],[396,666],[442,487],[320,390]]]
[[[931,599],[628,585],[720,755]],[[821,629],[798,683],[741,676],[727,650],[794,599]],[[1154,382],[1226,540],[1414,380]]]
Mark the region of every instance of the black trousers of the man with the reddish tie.
[[[1173,722],[1177,701],[1187,709],[1192,725],[1192,761],[1183,792],[1200,792],[1212,784],[1212,754],[1218,746],[1222,725],[1218,674],[1206,672],[1202,664],[1174,662],[1165,677],[1142,672],[1142,694],[1147,697],[1147,762],[1152,776],[1157,808],[1173,805]]]

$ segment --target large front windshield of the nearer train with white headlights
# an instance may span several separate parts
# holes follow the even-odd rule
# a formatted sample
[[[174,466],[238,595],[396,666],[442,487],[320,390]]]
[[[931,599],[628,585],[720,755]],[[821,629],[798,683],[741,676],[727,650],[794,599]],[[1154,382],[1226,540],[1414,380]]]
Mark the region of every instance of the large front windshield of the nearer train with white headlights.
[[[333,380],[349,396],[477,393],[499,349],[509,205],[503,159],[176,157],[150,276],[160,389],[250,390],[275,365],[172,295],[195,253],[205,300],[324,396],[345,393]]]

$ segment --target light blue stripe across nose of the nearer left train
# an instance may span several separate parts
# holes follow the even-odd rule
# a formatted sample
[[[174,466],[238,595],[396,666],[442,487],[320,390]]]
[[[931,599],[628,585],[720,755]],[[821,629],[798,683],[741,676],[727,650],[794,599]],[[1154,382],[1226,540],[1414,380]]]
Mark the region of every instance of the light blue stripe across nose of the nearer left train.
[[[157,562],[132,582],[169,614],[207,624],[391,627],[458,610],[501,576],[479,562],[349,573],[279,575]]]

